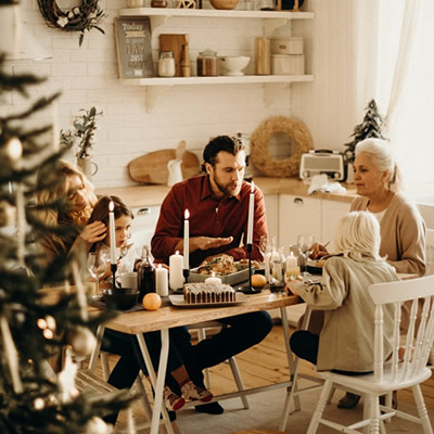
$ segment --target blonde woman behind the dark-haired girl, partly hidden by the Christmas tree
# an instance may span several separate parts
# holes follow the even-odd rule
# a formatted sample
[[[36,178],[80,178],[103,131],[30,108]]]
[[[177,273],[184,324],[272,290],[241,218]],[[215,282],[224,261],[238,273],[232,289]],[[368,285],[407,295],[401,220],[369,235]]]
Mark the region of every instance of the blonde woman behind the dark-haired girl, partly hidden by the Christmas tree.
[[[37,193],[36,205],[47,206],[56,202],[65,205],[62,212],[55,206],[38,212],[39,220],[56,232],[39,241],[49,259],[61,253],[87,253],[93,243],[104,239],[106,227],[102,221],[87,225],[97,196],[93,186],[77,167],[60,159],[54,170],[50,167],[39,171],[38,186],[46,189]],[[64,230],[71,227],[76,228],[73,234],[71,230]]]

